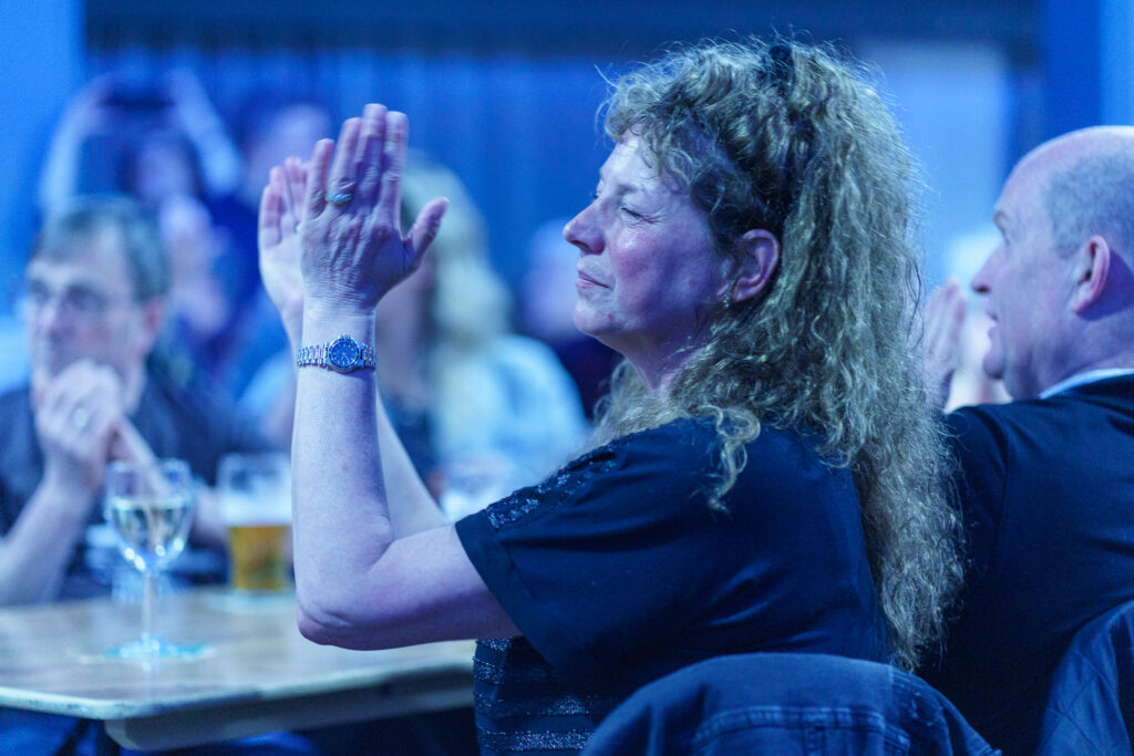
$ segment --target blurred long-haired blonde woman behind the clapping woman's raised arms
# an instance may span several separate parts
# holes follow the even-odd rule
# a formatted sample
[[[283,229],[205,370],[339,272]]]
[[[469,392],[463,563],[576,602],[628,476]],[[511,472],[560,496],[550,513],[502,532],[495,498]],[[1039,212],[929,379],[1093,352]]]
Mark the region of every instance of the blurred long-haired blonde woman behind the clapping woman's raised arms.
[[[428,155],[408,156],[401,215],[450,199],[429,258],[381,301],[374,345],[387,414],[417,469],[456,519],[569,459],[587,426],[570,376],[542,342],[510,331],[511,297],[489,264],[484,219],[457,176]],[[404,221],[407,222],[407,221]],[[290,443],[290,357],[261,376],[284,390],[264,418]]]

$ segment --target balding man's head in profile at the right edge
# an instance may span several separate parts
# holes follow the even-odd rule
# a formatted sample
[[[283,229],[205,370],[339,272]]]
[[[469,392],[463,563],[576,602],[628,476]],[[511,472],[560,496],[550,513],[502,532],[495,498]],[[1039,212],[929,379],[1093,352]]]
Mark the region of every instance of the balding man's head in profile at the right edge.
[[[992,318],[984,372],[1017,399],[1134,367],[1134,128],[1073,131],[1012,171],[1000,245],[973,277]]]

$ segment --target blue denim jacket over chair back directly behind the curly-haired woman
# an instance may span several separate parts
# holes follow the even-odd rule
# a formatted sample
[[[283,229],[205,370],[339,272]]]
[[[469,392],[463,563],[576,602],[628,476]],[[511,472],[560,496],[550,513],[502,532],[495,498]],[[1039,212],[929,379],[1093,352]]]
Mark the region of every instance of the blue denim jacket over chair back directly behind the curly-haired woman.
[[[586,756],[997,754],[913,674],[823,654],[720,656],[637,690]]]

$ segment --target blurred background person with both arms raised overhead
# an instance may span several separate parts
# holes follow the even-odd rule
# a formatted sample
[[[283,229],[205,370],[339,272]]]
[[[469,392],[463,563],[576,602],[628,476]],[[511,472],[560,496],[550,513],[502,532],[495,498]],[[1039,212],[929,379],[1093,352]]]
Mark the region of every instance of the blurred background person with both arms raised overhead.
[[[76,192],[113,192],[134,197],[158,222],[174,282],[167,332],[153,359],[166,363],[167,377],[183,389],[208,387],[231,397],[236,365],[245,358],[232,334],[259,278],[254,250],[239,254],[237,237],[215,222],[213,207],[238,189],[240,177],[227,125],[192,74],[119,71],[92,79],[71,99],[40,186],[44,212]],[[264,339],[274,333],[274,349],[284,335],[270,325]]]

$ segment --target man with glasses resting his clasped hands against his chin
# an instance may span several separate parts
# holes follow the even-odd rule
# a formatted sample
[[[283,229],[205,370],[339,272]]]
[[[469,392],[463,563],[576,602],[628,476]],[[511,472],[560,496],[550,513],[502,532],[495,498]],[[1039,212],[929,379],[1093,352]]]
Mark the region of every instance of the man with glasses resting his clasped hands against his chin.
[[[0,397],[0,604],[108,589],[83,546],[110,460],[179,457],[212,482],[223,453],[265,448],[217,398],[147,365],[169,267],[133,202],[76,201],[44,224],[25,273],[31,380]],[[195,537],[219,545],[209,513]]]

